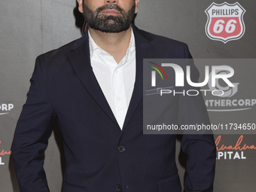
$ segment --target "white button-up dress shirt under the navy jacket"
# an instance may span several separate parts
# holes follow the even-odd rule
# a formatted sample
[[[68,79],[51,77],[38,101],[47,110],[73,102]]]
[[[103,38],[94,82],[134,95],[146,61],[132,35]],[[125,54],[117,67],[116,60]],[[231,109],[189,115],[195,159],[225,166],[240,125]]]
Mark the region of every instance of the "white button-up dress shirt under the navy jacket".
[[[133,29],[126,55],[119,63],[108,52],[102,50],[93,41],[90,32],[88,33],[90,62],[94,75],[122,130],[136,78],[136,47]]]

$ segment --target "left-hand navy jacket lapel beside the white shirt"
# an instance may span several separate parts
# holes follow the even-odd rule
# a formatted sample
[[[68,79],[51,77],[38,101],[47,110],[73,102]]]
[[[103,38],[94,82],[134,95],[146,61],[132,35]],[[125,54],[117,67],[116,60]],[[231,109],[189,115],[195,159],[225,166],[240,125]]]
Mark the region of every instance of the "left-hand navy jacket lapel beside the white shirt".
[[[105,114],[111,118],[111,120],[117,124],[117,120],[114,118],[114,114],[102,93],[99,83],[93,73],[93,68],[90,64],[90,48],[89,48],[89,38],[88,32],[72,47],[72,53],[69,54],[68,59],[71,63],[75,74],[80,79],[81,83],[84,84],[84,88],[90,94],[90,96],[95,100],[95,102],[105,111]]]

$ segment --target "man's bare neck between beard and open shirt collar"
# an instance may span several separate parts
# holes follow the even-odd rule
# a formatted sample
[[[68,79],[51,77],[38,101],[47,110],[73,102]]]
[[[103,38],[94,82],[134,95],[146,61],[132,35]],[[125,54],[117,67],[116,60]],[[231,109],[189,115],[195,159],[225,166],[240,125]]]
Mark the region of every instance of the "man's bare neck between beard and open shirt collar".
[[[131,26],[126,31],[118,33],[100,32],[90,27],[89,31],[93,41],[95,41],[102,50],[111,54],[117,63],[126,55],[126,50],[130,44]]]

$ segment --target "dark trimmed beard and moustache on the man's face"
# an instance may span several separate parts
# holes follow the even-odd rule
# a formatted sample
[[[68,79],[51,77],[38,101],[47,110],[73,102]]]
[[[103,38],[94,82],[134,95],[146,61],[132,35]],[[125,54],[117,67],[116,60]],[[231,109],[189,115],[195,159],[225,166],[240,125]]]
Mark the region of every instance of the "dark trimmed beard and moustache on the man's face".
[[[129,29],[131,23],[133,23],[135,17],[135,8],[136,5],[134,4],[128,13],[126,13],[123,8],[120,8],[118,5],[109,4],[103,5],[102,7],[97,8],[95,12],[93,12],[90,8],[87,7],[87,5],[84,5],[84,20],[87,21],[90,28],[99,30],[101,32],[123,32]],[[101,11],[108,9],[119,11],[121,16],[99,15]]]

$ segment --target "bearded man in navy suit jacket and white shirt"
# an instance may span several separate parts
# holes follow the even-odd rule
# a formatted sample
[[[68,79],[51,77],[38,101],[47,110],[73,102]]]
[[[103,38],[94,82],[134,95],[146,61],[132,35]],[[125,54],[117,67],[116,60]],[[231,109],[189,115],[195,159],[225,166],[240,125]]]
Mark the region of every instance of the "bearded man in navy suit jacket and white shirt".
[[[191,56],[186,44],[133,26],[138,3],[78,0],[89,30],[38,56],[14,135],[20,191],[49,191],[40,154],[54,119],[65,149],[64,192],[181,191],[175,135],[143,135],[142,62]],[[202,100],[180,99],[177,106],[174,121],[193,116],[209,123]],[[212,191],[212,136],[184,135],[181,145],[188,154],[186,191]]]

